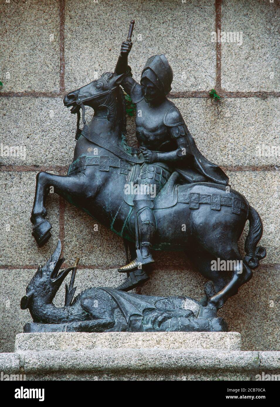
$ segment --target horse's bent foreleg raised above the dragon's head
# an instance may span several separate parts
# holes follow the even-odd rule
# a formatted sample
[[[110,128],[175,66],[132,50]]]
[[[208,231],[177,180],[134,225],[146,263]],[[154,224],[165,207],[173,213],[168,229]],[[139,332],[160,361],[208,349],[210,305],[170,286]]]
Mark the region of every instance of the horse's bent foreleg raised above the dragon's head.
[[[44,202],[53,187],[53,192],[65,197],[65,195],[81,195],[84,188],[84,176],[68,176],[55,175],[46,172],[40,172],[36,177],[36,189],[33,209],[31,212],[31,223],[33,224],[33,232],[37,245],[42,247],[51,237],[51,224],[45,219],[46,208]]]

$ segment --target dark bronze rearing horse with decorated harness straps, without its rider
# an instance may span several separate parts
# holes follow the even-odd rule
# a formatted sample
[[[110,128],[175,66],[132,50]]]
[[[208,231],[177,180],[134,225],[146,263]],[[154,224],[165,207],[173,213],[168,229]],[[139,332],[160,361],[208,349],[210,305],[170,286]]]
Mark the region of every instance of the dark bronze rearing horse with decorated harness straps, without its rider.
[[[31,222],[39,246],[51,236],[44,200],[53,186],[55,193],[122,236],[131,253],[135,252],[134,210],[123,191],[128,177],[133,181],[131,174],[137,173],[140,160],[126,144],[126,105],[119,87],[121,79],[122,75],[106,72],[64,98],[64,105],[72,107],[71,113],[79,114],[82,107],[84,118],[87,105],[94,109],[94,116],[82,134],[79,130],[76,133],[68,175],[37,174]],[[203,305],[220,308],[251,278],[251,269],[258,267],[259,260],[266,256],[266,249],[257,247],[262,221],[245,197],[229,186],[209,182],[180,185],[175,184],[176,174],[171,178],[155,199],[157,243],[153,249],[185,251],[198,271],[210,280],[205,285]],[[162,194],[165,200],[161,201]],[[168,204],[162,204],[163,201]],[[237,242],[247,219],[249,233],[246,256],[242,259]],[[218,259],[235,266],[230,271],[213,270],[211,263]],[[118,288],[126,291],[148,278],[145,271],[138,276],[137,272],[130,272],[128,279],[134,285],[123,284]]]

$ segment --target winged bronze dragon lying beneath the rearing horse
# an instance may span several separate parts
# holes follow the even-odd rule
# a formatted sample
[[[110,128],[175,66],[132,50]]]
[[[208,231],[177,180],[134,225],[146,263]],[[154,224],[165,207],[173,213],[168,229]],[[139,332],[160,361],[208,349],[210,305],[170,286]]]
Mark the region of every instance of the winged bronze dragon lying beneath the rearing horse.
[[[79,293],[67,306],[56,307],[53,299],[62,282],[73,271],[60,271],[60,240],[44,266],[39,266],[20,302],[29,309],[33,323],[24,332],[143,332],[224,331],[227,325],[216,309],[189,297],[157,297],[127,293],[110,287],[91,287]],[[76,287],[73,287],[75,292]],[[71,290],[70,290],[71,291]],[[66,293],[69,287],[66,285]]]

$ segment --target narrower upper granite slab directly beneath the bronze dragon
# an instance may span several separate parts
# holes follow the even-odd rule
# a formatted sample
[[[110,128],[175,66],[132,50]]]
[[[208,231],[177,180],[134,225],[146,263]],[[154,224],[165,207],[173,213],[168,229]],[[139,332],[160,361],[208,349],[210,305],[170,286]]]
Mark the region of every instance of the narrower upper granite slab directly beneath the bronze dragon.
[[[240,350],[237,332],[103,332],[21,333],[15,352],[93,349],[219,349]]]

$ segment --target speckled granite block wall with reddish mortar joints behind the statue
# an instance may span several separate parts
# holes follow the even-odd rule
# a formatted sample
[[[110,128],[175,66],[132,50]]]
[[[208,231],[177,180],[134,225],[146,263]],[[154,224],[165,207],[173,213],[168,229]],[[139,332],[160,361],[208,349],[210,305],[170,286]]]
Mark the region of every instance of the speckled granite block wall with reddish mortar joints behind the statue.
[[[41,249],[29,217],[36,173],[65,174],[73,157],[76,118],[64,108],[64,94],[114,69],[131,18],[135,78],[150,55],[165,53],[174,71],[170,98],[198,148],[223,166],[264,224],[267,257],[220,316],[242,334],[243,349],[279,350],[278,0],[10,0],[0,16],[0,142],[25,147],[26,158],[0,157],[0,352],[13,351],[15,334],[31,320],[20,298],[58,238],[67,264],[81,257],[77,291],[124,278],[116,272],[125,258],[122,240],[101,225],[94,232],[94,222],[59,197],[47,199],[53,229]],[[218,30],[232,33],[229,42],[211,41]],[[220,101],[209,98],[212,88]],[[132,119],[128,131],[134,145]],[[201,298],[205,280],[182,254],[155,258],[152,278],[138,293]],[[57,304],[63,295],[61,289]]]

